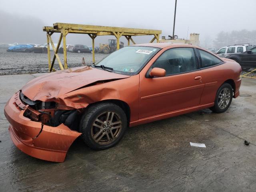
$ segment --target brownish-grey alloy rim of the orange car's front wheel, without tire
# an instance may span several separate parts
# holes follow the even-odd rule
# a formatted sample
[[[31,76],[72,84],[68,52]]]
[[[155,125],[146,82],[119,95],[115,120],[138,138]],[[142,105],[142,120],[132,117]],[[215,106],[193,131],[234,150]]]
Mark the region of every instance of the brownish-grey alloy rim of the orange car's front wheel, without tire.
[[[100,114],[92,124],[91,136],[94,142],[106,145],[112,143],[120,135],[122,121],[115,112]]]

